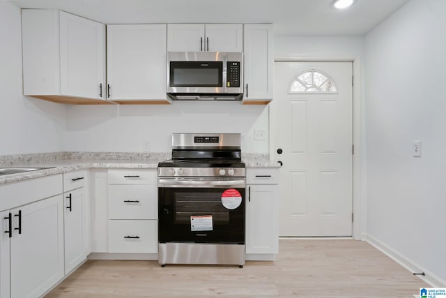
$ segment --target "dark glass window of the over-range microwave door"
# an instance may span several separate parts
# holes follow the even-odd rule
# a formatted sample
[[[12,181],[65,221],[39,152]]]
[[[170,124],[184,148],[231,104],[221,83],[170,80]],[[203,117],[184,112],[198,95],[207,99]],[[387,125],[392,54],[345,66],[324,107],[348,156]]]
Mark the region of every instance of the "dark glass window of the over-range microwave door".
[[[171,61],[170,87],[222,87],[221,61]]]

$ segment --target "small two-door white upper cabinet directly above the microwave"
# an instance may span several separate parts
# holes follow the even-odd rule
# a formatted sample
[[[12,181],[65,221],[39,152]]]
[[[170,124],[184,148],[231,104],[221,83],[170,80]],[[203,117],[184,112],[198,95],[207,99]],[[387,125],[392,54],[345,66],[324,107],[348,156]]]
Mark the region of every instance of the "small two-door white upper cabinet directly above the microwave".
[[[167,24],[168,52],[243,52],[242,24]]]

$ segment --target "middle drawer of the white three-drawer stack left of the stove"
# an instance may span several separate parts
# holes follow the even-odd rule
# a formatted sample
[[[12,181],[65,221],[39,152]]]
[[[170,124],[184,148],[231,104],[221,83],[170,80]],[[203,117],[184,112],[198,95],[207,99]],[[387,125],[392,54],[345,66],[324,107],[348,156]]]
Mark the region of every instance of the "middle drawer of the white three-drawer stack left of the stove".
[[[157,219],[157,186],[109,185],[109,219]]]

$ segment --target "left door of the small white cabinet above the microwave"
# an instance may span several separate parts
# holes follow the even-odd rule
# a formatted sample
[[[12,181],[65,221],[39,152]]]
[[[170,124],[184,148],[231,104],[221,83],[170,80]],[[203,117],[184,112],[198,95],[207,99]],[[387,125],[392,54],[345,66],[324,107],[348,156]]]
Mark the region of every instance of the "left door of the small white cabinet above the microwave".
[[[168,52],[201,52],[204,39],[204,24],[167,24]]]

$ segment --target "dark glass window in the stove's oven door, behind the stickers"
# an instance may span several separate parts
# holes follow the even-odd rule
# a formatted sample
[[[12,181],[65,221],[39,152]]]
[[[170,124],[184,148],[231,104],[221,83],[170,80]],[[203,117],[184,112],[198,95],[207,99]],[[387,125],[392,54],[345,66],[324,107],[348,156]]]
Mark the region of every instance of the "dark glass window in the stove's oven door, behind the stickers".
[[[220,193],[175,193],[175,223],[189,224],[191,216],[212,216],[215,224],[229,223],[229,209],[222,205]]]

